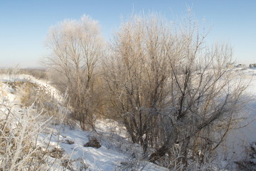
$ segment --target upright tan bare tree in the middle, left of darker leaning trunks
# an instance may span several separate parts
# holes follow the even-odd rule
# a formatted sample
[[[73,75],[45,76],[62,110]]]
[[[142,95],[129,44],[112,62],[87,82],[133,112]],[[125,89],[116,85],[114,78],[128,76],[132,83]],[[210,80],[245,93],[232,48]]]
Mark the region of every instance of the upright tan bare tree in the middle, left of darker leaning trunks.
[[[164,108],[168,95],[168,34],[164,21],[156,16],[134,16],[117,33],[113,54],[106,63],[114,112],[122,118],[132,142],[143,145],[145,153],[154,141],[149,135],[156,131],[158,109]]]

